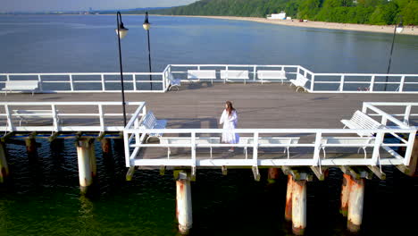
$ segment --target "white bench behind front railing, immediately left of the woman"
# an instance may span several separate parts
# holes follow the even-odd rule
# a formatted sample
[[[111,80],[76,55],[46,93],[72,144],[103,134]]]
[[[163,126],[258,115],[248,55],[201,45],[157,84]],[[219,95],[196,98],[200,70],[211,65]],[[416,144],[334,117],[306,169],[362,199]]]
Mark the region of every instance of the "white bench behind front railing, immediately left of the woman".
[[[196,137],[196,147],[202,145],[203,147],[210,147],[212,144],[219,144],[221,138],[219,137]],[[191,138],[189,137],[161,137],[160,144],[167,146],[167,158],[170,159],[171,149],[170,145],[180,145],[185,147],[190,147]],[[211,159],[212,159],[212,147],[211,149]]]

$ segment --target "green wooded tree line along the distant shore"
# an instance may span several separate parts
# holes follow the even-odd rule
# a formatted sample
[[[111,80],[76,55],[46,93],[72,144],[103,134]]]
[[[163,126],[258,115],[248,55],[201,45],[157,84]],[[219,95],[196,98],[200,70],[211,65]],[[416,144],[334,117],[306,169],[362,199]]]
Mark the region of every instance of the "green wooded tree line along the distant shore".
[[[402,15],[405,25],[418,25],[418,0],[201,0],[149,13],[265,17],[281,11],[310,21],[376,25],[396,24]]]

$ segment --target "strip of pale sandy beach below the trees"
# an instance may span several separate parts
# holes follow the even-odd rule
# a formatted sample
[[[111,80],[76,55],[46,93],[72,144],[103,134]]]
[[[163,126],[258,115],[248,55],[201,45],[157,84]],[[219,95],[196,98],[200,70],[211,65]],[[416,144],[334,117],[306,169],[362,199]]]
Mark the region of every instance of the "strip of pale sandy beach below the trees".
[[[167,15],[162,15],[167,16]],[[376,33],[389,33],[393,34],[395,30],[393,25],[364,25],[364,24],[347,24],[347,23],[333,23],[322,21],[307,21],[299,22],[297,19],[293,20],[271,20],[258,17],[238,17],[238,16],[196,16],[196,15],[179,15],[180,17],[200,17],[200,18],[212,18],[232,21],[255,21],[267,24],[279,24],[296,27],[308,27],[308,28],[320,28],[320,29],[332,29],[332,30],[354,30],[354,31],[367,31]],[[404,35],[418,35],[417,26],[404,26],[404,30],[401,34]]]

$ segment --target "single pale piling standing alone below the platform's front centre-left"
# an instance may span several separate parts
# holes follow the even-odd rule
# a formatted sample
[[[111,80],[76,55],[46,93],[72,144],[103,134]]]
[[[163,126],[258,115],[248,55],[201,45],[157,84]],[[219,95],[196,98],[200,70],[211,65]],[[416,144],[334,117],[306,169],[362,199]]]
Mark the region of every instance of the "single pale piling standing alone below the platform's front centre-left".
[[[190,174],[180,172],[176,181],[176,216],[181,234],[188,234],[192,227],[192,199],[190,188]]]

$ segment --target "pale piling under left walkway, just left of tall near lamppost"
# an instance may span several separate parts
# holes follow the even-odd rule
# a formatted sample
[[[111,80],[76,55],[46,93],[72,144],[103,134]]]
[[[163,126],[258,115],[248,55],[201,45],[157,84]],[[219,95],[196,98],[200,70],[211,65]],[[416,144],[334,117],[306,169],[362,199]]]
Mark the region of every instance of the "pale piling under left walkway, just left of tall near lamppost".
[[[96,175],[96,156],[94,143],[89,139],[79,139],[76,142],[79,163],[79,186],[86,193]]]

